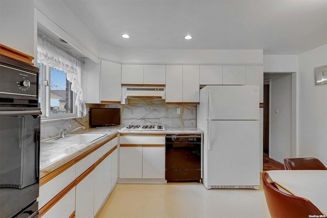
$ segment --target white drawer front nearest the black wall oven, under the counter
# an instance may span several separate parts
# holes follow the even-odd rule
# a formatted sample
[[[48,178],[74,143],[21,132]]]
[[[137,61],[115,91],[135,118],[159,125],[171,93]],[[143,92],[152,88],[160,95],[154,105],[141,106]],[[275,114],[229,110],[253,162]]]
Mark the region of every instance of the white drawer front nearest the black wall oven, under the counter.
[[[60,191],[75,180],[75,167],[74,164],[49,182],[40,186],[38,198],[39,208],[42,208],[46,203],[58,195]]]

